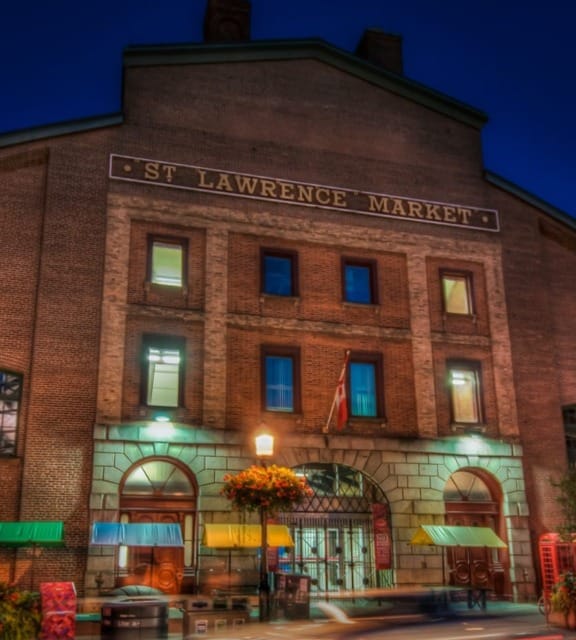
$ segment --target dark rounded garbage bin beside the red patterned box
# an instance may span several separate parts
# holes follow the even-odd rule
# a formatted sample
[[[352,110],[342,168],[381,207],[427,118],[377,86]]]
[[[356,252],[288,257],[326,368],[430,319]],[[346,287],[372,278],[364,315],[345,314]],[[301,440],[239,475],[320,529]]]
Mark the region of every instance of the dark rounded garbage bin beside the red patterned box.
[[[101,614],[100,633],[103,638],[168,637],[168,603],[162,600],[105,602]]]

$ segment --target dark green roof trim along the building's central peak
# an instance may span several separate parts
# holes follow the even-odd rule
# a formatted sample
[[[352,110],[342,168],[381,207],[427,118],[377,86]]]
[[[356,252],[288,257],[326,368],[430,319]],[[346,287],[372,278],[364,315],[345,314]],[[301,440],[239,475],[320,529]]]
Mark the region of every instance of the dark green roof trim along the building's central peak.
[[[486,113],[475,107],[363,60],[320,38],[210,44],[132,45],[124,49],[124,67],[261,62],[304,58],[312,58],[330,64],[366,82],[413,100],[476,129],[481,129],[488,121]]]

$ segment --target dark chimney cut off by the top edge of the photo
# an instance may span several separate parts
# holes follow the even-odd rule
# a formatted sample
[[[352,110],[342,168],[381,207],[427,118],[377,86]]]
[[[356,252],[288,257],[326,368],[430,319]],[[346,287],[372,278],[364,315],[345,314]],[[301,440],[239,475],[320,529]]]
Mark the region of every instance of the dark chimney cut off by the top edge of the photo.
[[[204,15],[204,41],[250,40],[250,11],[250,0],[208,0]]]

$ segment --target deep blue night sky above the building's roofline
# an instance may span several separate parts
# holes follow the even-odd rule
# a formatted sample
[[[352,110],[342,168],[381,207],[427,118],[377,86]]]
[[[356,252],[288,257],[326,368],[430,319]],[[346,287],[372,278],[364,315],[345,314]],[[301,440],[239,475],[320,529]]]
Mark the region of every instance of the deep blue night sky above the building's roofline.
[[[117,112],[122,50],[200,42],[206,0],[13,0],[0,23],[0,132]],[[486,112],[485,167],[576,217],[576,3],[252,0],[252,38],[353,51],[400,34],[406,76]]]

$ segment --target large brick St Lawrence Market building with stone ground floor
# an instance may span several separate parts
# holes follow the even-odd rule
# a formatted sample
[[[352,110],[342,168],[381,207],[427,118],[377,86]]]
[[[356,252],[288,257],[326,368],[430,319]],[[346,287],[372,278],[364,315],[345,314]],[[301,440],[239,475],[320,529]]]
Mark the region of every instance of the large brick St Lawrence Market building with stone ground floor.
[[[215,2],[205,31],[127,49],[121,114],[0,139],[1,519],[65,527],[0,549],[0,579],[254,585],[256,551],[206,532],[252,522],[219,492],[265,424],[315,491],[280,516],[279,568],[533,593],[576,404],[576,223],[485,170],[486,117],[405,78],[398,37],[252,42],[248,4]],[[90,544],[97,522],[178,523],[184,547]],[[444,562],[422,524],[507,547]]]

